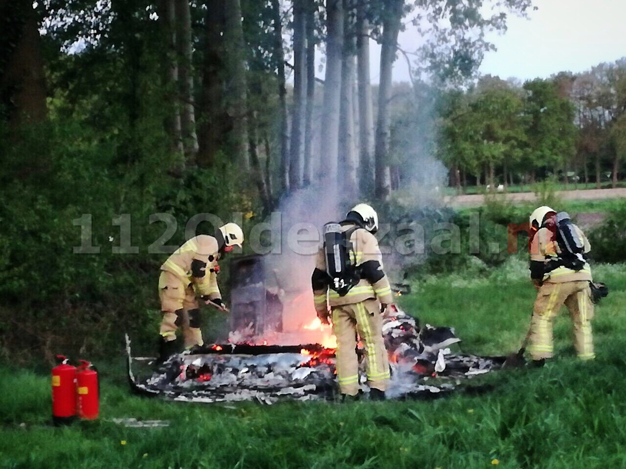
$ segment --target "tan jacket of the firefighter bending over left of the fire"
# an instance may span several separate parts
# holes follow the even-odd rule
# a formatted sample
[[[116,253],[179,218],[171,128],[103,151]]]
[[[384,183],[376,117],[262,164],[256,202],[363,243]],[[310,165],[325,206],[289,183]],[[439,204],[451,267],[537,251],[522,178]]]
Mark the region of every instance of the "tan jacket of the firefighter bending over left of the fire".
[[[222,298],[217,286],[217,260],[219,246],[213,236],[198,235],[180,246],[161,270],[173,273],[185,286],[193,285],[193,289],[211,300]]]

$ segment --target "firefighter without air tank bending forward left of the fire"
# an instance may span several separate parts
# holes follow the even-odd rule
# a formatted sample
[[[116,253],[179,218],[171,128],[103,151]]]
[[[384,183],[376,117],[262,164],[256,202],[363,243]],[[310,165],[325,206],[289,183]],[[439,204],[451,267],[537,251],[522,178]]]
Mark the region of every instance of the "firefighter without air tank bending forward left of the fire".
[[[167,360],[176,353],[178,326],[182,326],[185,348],[203,345],[196,295],[207,305],[228,311],[217,286],[217,261],[234,246],[241,247],[243,242],[242,229],[235,223],[227,223],[215,231],[215,236],[191,238],[163,263],[158,281],[163,313],[160,360]]]

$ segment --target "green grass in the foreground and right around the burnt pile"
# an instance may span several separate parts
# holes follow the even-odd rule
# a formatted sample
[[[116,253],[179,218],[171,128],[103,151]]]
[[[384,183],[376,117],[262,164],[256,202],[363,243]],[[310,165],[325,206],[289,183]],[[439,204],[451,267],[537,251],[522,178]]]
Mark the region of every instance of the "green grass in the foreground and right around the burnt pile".
[[[101,366],[101,418],[49,425],[47,375],[0,369],[0,468],[619,468],[626,466],[626,266],[598,266],[597,360],[574,357],[565,314],[557,359],[500,371],[483,395],[437,401],[190,405],[130,395],[123,366]],[[452,325],[464,351],[515,351],[534,290],[521,261],[488,277],[414,281],[401,298],[422,323]],[[170,421],[125,428],[111,418]],[[125,445],[121,441],[126,441]]]

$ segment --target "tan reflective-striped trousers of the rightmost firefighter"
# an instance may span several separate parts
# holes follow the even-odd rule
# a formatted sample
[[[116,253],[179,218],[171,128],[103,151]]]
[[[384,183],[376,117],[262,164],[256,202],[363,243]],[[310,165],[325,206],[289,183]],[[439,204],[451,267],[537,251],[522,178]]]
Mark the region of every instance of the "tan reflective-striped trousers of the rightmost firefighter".
[[[531,320],[530,352],[533,360],[552,358],[552,322],[561,306],[567,306],[572,316],[574,345],[578,357],[595,358],[593,353],[593,303],[588,281],[544,283],[537,294]]]

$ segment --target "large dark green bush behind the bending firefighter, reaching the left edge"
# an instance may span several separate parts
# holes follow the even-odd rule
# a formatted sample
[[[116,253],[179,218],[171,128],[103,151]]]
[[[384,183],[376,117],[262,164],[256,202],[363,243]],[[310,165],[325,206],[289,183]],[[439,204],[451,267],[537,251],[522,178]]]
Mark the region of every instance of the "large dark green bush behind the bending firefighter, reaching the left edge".
[[[167,174],[160,128],[142,136],[135,160],[123,144],[86,126],[66,121],[44,126],[9,145],[0,135],[8,171],[1,177],[0,353],[12,360],[76,357],[122,350],[125,331],[138,343],[155,343],[160,313],[158,268],[165,254],[148,246],[164,231],[148,223],[153,213],[171,213],[178,229],[167,245],[184,240],[187,220],[197,213],[230,219],[230,211],[256,207],[236,190],[234,170],[191,168],[180,178]],[[243,194],[243,195],[241,195]],[[74,253],[81,227],[73,220],[91,214],[91,244],[98,254]],[[138,254],[113,254],[120,226],[131,216],[131,246]],[[198,233],[212,233],[208,223]]]

